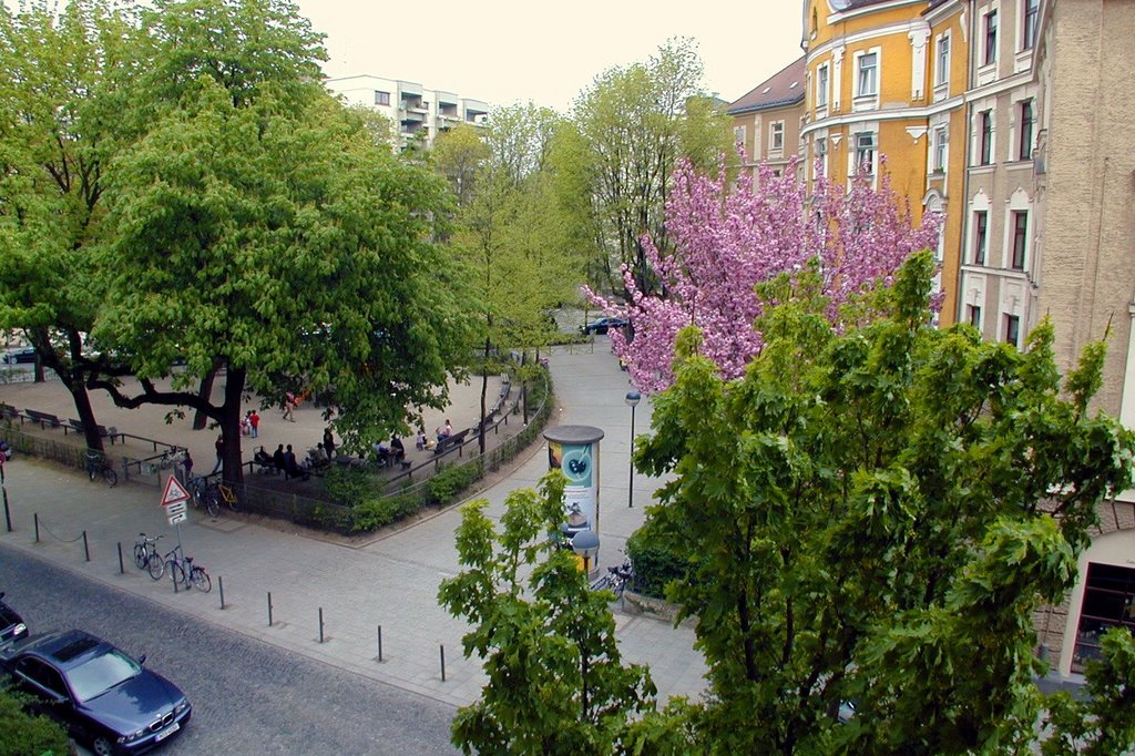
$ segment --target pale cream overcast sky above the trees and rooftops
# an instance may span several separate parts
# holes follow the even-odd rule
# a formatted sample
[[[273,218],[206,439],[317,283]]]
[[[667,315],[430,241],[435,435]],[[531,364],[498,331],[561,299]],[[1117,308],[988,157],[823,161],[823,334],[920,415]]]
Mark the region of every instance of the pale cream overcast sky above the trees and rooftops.
[[[801,0],[295,0],[330,77],[370,74],[484,100],[565,112],[594,78],[692,37],[704,87],[732,102],[801,54]]]

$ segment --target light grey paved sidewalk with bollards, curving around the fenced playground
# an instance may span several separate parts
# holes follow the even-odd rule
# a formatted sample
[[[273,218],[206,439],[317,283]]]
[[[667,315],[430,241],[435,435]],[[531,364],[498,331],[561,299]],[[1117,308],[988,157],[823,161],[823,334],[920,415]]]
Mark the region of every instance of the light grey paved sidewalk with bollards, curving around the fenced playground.
[[[630,388],[627,373],[619,369],[605,337],[596,339],[590,353],[553,354],[550,368],[558,400],[554,421],[595,426],[606,434],[599,445],[599,563],[616,564],[622,561],[619,549],[642,523],[644,507],[658,485],[656,480],[636,476],[633,506],[628,506],[631,410],[623,401]],[[47,406],[8,398],[10,386],[0,388],[2,401],[50,411]],[[456,414],[457,409],[453,412]],[[454,420],[457,425],[456,417]],[[644,397],[636,410],[636,432],[646,431],[649,420],[650,402]],[[108,420],[106,425],[115,423]],[[119,429],[136,432],[121,427],[126,425],[124,418]],[[280,425],[279,418],[274,417],[269,427],[272,425]],[[294,428],[299,438],[300,425]],[[312,428],[321,434],[321,425]],[[266,436],[261,432],[262,438]],[[211,465],[205,463],[211,461],[209,455],[199,459],[197,464],[208,469]],[[186,552],[209,570],[213,590],[175,595],[168,580],[154,582],[131,563],[138,531],[167,534],[162,540],[167,549],[177,540],[175,529],[167,524],[159,506],[160,492],[140,485],[108,488],[76,471],[27,457],[16,457],[5,468],[15,530],[6,532],[0,528],[0,545],[37,554],[89,578],[249,637],[455,706],[476,700],[486,683],[480,661],[466,660],[462,654],[461,637],[468,625],[437,605],[438,583],[460,570],[454,548],[454,532],[460,522],[456,506],[365,545],[281,532],[239,514],[226,518],[222,513],[210,519],[191,509],[188,522],[179,528],[180,539]],[[546,471],[547,446],[536,444],[510,474],[479,496],[489,499],[489,514],[499,518],[507,494],[515,488],[535,487]],[[35,514],[41,523],[39,544],[34,543]],[[84,560],[83,532],[90,544],[90,563]],[[119,571],[117,544],[123,547],[125,572]],[[18,595],[8,590],[18,605]],[[705,665],[692,648],[692,629],[623,613],[617,605],[615,608],[624,660],[649,665],[661,702],[671,695],[696,697],[701,692]],[[320,610],[323,642],[320,642]],[[378,661],[379,632],[381,661]]]

